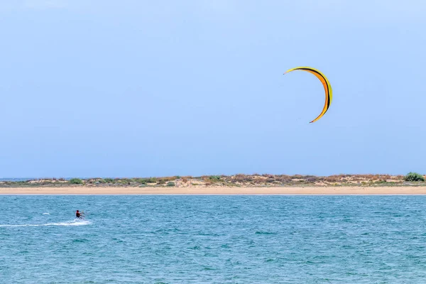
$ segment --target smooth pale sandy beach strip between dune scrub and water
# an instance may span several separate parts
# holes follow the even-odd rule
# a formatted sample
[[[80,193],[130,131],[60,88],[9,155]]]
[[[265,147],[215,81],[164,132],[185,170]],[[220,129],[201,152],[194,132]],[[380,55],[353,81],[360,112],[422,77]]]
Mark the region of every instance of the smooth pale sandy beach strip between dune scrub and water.
[[[426,195],[426,187],[11,187],[0,195]]]

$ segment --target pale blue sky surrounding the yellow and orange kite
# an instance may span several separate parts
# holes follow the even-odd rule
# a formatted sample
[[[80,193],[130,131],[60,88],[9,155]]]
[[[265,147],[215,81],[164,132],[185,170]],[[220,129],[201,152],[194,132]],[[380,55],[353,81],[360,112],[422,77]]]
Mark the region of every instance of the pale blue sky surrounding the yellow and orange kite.
[[[6,2],[6,4],[5,4]],[[426,173],[420,0],[0,2],[0,178]],[[324,89],[332,106],[315,119]]]

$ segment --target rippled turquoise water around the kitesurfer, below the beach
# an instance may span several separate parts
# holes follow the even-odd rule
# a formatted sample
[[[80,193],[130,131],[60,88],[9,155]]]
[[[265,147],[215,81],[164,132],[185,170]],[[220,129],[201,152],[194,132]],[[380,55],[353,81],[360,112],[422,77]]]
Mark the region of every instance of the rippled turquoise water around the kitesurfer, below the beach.
[[[0,210],[0,283],[426,283],[422,196],[10,195]]]

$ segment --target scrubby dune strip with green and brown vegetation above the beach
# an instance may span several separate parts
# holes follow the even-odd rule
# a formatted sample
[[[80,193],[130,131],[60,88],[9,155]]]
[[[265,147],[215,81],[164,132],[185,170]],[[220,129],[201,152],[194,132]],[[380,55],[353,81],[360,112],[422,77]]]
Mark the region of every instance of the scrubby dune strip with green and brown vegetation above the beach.
[[[63,178],[0,181],[0,187],[310,187],[310,186],[426,186],[419,173],[408,175],[179,175],[162,178]]]

